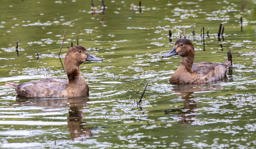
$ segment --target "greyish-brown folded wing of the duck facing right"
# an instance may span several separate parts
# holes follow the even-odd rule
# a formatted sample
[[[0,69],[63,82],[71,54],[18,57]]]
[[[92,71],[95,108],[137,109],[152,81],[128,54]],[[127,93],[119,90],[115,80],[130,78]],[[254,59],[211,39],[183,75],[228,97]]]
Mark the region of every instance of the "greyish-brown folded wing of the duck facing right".
[[[67,88],[68,80],[46,78],[19,84],[16,91],[24,97],[59,97]]]

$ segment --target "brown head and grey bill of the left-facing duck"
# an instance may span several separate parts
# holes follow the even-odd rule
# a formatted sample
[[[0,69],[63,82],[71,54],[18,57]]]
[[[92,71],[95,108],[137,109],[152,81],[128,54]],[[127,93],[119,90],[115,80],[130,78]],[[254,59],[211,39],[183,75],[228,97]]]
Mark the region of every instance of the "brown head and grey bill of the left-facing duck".
[[[180,55],[181,57],[192,56],[194,57],[194,47],[188,39],[178,39],[174,47],[168,53],[162,55],[163,58]]]

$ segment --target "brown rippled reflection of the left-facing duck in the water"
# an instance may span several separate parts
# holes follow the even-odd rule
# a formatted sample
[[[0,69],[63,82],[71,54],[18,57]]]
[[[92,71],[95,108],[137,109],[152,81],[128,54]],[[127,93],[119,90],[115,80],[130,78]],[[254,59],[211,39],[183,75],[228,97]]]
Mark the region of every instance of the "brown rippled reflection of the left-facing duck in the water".
[[[200,85],[200,84],[180,84],[173,85],[173,91],[177,92],[177,97],[181,97],[183,100],[183,108],[165,110],[165,114],[173,115],[177,114],[179,117],[179,124],[192,124],[196,121],[196,94],[203,94],[204,91],[220,90],[222,86],[220,84],[215,85]],[[201,92],[201,93],[200,93]]]

